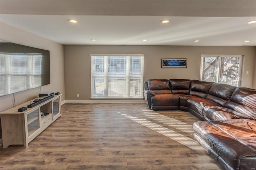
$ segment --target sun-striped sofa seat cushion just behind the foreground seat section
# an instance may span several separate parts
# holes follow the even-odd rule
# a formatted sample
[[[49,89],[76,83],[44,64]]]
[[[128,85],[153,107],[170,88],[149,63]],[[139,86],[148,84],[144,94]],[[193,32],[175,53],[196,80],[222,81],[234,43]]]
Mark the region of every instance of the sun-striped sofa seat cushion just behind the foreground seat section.
[[[205,106],[203,114],[206,120],[225,120],[238,118],[252,119],[245,114],[220,106]]]

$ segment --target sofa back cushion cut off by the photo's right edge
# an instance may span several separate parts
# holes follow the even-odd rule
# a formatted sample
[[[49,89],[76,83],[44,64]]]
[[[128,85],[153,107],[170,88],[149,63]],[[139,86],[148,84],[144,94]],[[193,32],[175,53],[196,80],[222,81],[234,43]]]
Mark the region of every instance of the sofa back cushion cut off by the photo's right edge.
[[[225,106],[256,120],[256,90],[244,87],[236,88]]]

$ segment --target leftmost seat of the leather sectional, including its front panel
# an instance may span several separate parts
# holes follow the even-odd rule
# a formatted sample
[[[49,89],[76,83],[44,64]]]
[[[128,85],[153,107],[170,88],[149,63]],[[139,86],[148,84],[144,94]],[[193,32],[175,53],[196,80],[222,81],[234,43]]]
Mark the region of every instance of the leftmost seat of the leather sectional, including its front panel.
[[[177,110],[179,103],[179,96],[174,94],[158,94],[151,97],[152,110]]]

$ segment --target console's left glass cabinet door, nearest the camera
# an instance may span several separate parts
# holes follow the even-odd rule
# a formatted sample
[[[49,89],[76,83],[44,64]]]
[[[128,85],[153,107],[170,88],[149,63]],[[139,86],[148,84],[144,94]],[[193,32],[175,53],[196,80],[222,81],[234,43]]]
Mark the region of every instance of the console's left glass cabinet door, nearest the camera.
[[[36,130],[39,129],[39,111],[34,110],[26,115],[27,127],[28,127],[28,137],[32,135]]]

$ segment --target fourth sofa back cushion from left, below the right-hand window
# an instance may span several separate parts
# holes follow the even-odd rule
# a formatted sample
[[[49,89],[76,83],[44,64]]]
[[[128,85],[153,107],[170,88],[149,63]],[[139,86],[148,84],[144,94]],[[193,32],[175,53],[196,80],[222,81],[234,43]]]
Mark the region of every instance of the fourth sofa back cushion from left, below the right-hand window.
[[[213,102],[216,102],[220,104],[221,106],[224,106],[226,102],[231,98],[232,93],[236,89],[236,86],[231,86],[228,84],[219,84],[219,83],[213,83],[208,95],[206,96],[206,99],[212,100]]]

